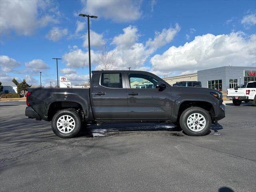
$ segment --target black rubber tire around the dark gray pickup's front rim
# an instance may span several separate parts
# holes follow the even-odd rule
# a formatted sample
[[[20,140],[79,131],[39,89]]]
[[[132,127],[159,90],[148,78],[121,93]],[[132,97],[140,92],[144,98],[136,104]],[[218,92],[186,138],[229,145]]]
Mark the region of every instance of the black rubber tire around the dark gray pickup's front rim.
[[[202,128],[202,130],[200,131],[190,130],[190,128],[187,125],[187,120],[189,116],[194,113],[201,114],[202,116],[204,116],[204,119],[206,121],[204,128]],[[186,134],[190,136],[204,136],[208,134],[211,128],[211,124],[212,124],[212,119],[210,117],[209,112],[200,107],[190,107],[184,110],[184,112],[182,112],[180,116],[180,127]]]

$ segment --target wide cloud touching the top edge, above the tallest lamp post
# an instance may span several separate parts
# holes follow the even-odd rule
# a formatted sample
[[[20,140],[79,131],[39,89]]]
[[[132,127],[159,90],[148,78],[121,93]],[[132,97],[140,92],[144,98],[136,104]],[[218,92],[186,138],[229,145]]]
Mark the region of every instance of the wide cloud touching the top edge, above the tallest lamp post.
[[[140,18],[142,1],[133,0],[87,0],[82,12],[115,22],[130,22]]]

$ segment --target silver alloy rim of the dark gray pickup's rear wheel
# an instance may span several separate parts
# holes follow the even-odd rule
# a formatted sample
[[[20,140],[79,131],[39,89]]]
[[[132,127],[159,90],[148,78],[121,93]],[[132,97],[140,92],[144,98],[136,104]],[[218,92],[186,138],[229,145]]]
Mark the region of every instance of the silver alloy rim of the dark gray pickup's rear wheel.
[[[76,122],[70,115],[62,115],[57,120],[57,128],[62,133],[70,133],[74,130]]]

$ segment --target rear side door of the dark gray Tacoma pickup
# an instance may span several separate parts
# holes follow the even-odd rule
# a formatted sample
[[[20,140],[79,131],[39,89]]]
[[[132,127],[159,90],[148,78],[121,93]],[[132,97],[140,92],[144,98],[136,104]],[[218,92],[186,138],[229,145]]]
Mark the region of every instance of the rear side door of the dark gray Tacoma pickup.
[[[106,73],[105,73],[106,74]],[[109,74],[109,73],[108,73]],[[121,74],[121,73],[120,73]],[[128,105],[127,105],[127,92],[126,85],[122,74],[122,83],[118,87],[124,88],[114,88],[115,85],[112,84],[112,88],[108,88],[105,86],[109,86],[107,82],[107,75],[105,76],[106,82],[102,80],[104,73],[96,74],[93,87],[92,87],[92,101],[93,101],[93,110],[96,119],[124,119],[128,117]],[[121,77],[121,75],[120,75]],[[102,84],[104,86],[102,86]]]

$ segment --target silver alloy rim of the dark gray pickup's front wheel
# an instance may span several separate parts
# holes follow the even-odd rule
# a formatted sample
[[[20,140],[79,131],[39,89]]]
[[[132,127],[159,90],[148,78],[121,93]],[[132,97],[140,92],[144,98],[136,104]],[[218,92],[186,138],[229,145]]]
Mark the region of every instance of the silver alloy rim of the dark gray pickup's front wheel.
[[[200,113],[193,113],[188,117],[187,125],[194,132],[202,131],[206,126],[206,119]]]

